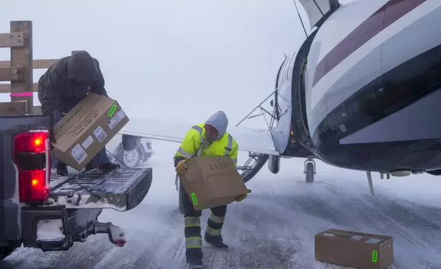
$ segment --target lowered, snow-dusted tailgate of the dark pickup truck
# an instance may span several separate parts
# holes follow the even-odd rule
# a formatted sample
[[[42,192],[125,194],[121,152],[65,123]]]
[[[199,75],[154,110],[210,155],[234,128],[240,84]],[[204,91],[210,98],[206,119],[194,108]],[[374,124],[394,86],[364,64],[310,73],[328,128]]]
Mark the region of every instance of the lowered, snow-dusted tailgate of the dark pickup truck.
[[[151,168],[95,169],[71,178],[51,173],[51,196],[47,202],[64,204],[68,209],[128,211],[149,192],[152,172]]]

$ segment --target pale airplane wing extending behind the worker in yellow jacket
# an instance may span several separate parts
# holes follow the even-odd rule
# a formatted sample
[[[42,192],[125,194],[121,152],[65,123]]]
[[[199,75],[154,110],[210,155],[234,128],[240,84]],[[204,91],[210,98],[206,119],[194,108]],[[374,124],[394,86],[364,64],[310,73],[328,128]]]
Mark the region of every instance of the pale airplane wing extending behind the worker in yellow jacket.
[[[119,134],[181,143],[194,124],[149,118],[130,118]],[[279,155],[269,130],[229,127],[228,132],[239,144],[239,150]]]

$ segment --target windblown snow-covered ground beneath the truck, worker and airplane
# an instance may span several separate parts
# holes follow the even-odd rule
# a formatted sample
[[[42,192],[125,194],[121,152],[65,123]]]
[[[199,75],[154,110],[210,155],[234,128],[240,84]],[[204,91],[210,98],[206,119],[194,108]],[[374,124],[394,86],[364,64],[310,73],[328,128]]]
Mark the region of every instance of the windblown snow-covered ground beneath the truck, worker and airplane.
[[[177,146],[153,141],[155,155],[148,162],[153,185],[147,197],[136,209],[109,209],[99,217],[125,229],[124,248],[112,246],[107,235],[94,235],[66,252],[16,250],[0,268],[186,268],[172,161]],[[373,174],[373,197],[364,172],[317,164],[313,184],[305,183],[302,159],[283,160],[279,174],[264,167],[247,184],[249,198],[229,206],[223,235],[230,250],[204,242],[207,268],[340,268],[314,261],[314,235],[331,228],[393,236],[390,268],[441,268],[441,178],[380,180]],[[208,213],[203,212],[204,226]]]

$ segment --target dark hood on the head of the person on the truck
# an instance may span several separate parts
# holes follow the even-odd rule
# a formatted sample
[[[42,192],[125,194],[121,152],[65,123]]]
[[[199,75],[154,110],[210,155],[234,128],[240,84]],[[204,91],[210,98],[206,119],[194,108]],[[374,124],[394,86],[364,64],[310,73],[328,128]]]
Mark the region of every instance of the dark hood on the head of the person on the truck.
[[[87,80],[98,78],[99,71],[95,60],[87,51],[78,51],[67,62],[68,78]]]

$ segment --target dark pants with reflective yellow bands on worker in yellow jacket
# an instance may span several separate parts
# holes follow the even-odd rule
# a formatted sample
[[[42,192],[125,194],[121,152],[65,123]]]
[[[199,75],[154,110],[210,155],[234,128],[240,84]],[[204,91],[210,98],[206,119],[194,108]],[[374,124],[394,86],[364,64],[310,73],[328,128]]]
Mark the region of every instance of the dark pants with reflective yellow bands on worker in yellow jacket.
[[[195,210],[192,202],[186,193],[184,186],[179,181],[179,191],[181,191],[181,203],[184,205],[184,233],[186,235],[186,258],[201,260],[202,254],[202,237],[201,237],[201,220],[202,211]],[[207,229],[205,234],[209,237],[221,237],[222,226],[227,213],[227,206],[211,208],[212,213],[207,221]]]

